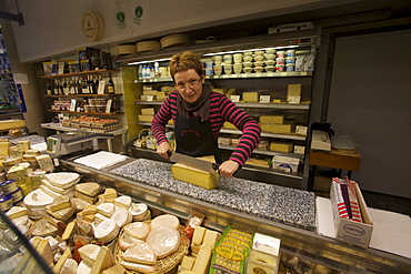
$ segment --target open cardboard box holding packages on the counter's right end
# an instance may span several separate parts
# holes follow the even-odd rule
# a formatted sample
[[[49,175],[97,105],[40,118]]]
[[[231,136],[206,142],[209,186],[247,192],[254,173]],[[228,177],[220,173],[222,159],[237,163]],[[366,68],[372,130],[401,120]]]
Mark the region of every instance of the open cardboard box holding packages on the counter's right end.
[[[335,187],[340,187],[339,184],[337,182],[331,182],[330,199],[335,227],[335,240],[367,248],[370,244],[373,223],[371,221],[365,201],[361,194],[361,190],[358,183],[355,183],[355,193],[363,223],[359,223],[350,219],[340,217],[337,206],[338,200]]]

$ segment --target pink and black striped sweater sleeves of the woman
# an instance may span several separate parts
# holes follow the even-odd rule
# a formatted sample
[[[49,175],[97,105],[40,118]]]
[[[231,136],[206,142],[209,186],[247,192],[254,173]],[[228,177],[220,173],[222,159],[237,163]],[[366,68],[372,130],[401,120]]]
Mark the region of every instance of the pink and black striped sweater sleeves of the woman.
[[[176,122],[178,94],[178,91],[170,93],[151,122],[151,130],[158,144],[167,142],[166,124],[168,121],[172,119]],[[231,153],[230,160],[243,165],[260,141],[261,128],[258,122],[245,111],[239,109],[225,95],[217,92],[212,92],[210,95],[209,120],[215,141],[225,121],[241,130],[242,136],[235,150]]]

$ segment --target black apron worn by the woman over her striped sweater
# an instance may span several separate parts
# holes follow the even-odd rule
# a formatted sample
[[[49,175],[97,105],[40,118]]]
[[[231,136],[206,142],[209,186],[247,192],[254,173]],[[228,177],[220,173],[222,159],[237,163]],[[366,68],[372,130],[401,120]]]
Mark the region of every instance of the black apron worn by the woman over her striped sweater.
[[[222,163],[218,143],[212,135],[209,120],[201,122],[201,118],[184,118],[177,113],[176,152],[189,156],[214,155],[217,163]]]

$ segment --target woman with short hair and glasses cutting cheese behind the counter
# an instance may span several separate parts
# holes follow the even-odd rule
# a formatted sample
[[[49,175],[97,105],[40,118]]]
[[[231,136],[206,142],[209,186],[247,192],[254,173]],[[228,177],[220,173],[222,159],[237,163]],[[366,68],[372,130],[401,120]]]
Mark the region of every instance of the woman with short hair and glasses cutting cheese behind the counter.
[[[167,142],[166,124],[172,119],[177,152],[190,156],[214,155],[215,162],[221,163],[219,173],[233,177],[260,140],[259,124],[225,95],[212,92],[204,84],[204,72],[198,54],[186,51],[173,55],[170,73],[177,91],[166,99],[151,123],[158,143],[157,153],[169,159],[171,146]],[[241,130],[242,136],[229,160],[222,163],[217,140],[225,121]]]

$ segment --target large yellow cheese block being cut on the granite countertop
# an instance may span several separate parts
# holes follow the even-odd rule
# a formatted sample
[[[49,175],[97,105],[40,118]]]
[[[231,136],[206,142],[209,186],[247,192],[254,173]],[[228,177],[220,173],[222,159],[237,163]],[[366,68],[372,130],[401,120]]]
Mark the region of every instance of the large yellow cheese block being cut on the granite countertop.
[[[207,190],[217,189],[220,183],[220,176],[217,172],[212,174],[181,163],[171,165],[171,174],[176,180],[194,184]]]

